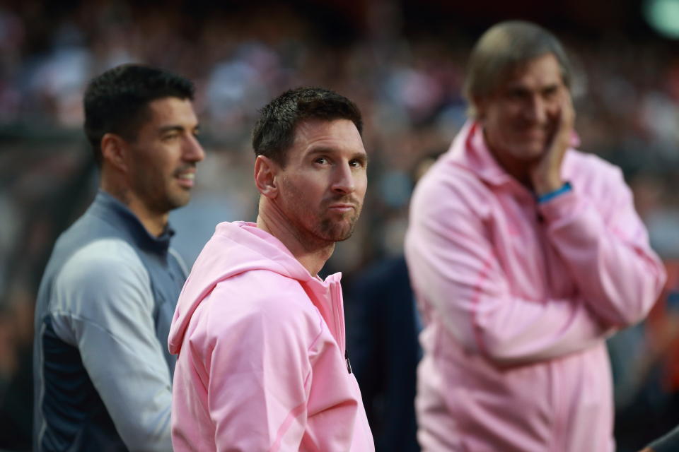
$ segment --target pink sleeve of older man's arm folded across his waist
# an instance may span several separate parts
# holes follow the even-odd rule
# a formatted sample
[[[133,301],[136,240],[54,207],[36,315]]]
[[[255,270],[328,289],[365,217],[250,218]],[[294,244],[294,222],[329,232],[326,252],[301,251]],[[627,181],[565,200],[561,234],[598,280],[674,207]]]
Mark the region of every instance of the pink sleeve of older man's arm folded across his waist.
[[[579,296],[525,299],[511,293],[479,213],[441,180],[423,180],[411,204],[405,253],[417,296],[468,350],[500,364],[583,350],[605,328]]]

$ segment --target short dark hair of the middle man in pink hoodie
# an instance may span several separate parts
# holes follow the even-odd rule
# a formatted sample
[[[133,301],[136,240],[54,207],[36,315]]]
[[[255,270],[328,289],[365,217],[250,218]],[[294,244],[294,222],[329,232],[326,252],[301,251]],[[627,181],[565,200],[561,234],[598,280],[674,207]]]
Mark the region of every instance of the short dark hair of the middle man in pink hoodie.
[[[265,155],[285,166],[296,126],[305,119],[348,119],[363,133],[361,112],[347,97],[325,88],[296,88],[287,90],[260,110],[253,131],[255,155]]]

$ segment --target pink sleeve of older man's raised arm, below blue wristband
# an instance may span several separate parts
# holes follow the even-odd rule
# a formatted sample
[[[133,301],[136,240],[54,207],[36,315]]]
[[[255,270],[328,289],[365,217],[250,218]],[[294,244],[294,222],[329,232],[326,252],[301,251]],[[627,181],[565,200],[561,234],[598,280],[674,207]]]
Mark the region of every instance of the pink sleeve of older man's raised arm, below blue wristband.
[[[649,246],[620,169],[602,170],[598,179],[605,181],[605,201],[585,196],[581,187],[574,186],[541,204],[540,210],[550,242],[567,263],[590,309],[608,326],[620,328],[646,316],[666,275]]]

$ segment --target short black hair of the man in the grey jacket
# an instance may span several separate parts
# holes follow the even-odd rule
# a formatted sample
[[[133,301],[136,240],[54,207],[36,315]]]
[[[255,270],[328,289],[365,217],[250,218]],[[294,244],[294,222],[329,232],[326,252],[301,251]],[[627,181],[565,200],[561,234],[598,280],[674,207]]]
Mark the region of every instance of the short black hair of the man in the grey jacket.
[[[85,133],[101,166],[101,138],[116,133],[128,141],[137,138],[148,114],[149,102],[163,97],[193,100],[191,81],[163,69],[123,64],[95,77],[85,90]]]

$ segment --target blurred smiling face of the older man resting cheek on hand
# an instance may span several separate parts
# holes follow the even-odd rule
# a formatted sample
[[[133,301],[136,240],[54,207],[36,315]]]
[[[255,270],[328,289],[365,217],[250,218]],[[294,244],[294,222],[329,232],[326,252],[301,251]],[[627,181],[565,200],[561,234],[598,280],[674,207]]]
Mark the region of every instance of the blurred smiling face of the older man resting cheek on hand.
[[[567,95],[557,59],[545,54],[512,73],[495,93],[477,100],[487,143],[499,160],[539,160],[554,136]]]

